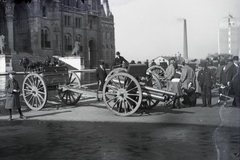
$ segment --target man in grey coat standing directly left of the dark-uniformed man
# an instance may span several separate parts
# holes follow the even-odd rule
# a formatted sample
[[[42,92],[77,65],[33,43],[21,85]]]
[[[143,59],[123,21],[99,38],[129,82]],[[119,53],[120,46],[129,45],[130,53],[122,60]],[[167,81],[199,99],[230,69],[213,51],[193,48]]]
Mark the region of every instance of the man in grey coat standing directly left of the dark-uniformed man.
[[[185,60],[182,67],[182,74],[180,76],[180,83],[181,83],[181,89],[183,91],[183,104],[187,106],[195,106],[196,105],[196,97],[194,96],[194,92],[188,92],[190,91],[190,88],[196,88],[196,75],[193,69],[189,66],[189,61]],[[192,97],[192,98],[191,98]]]

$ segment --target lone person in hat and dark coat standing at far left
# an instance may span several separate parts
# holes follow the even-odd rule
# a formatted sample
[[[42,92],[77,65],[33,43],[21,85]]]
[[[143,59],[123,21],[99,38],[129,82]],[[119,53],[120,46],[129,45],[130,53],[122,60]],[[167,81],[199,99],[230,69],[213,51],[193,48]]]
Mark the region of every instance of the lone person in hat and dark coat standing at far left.
[[[21,111],[21,104],[20,104],[20,87],[17,82],[17,80],[14,78],[16,72],[9,71],[9,79],[6,82],[6,92],[7,92],[7,98],[6,98],[6,104],[5,109],[9,110],[9,120],[12,121],[12,109],[17,108],[20,118],[26,119],[25,116],[23,116],[23,113]]]

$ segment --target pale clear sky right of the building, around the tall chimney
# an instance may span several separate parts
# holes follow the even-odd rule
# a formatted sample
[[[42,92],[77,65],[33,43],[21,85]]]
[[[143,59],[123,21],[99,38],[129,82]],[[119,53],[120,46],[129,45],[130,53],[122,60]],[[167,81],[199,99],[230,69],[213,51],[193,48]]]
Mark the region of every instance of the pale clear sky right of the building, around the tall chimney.
[[[115,47],[127,60],[183,55],[183,19],[188,57],[218,51],[218,26],[240,17],[240,0],[108,0],[115,23]]]

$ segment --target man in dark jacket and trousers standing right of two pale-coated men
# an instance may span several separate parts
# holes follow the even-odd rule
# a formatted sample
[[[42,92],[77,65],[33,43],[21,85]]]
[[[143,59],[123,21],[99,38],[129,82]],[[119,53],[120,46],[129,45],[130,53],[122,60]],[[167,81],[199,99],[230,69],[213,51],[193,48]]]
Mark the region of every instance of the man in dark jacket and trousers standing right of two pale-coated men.
[[[207,67],[207,61],[202,62],[203,69],[199,71],[198,82],[201,87],[202,107],[211,107],[212,94],[211,89],[215,84],[215,76],[213,72]]]

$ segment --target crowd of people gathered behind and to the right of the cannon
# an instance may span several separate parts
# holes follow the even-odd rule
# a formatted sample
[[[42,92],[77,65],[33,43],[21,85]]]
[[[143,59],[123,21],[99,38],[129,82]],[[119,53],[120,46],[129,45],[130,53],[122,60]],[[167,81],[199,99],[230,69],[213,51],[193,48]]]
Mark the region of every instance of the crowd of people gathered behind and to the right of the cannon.
[[[178,97],[183,99],[179,102],[179,107],[191,107],[196,105],[197,98],[201,95],[202,107],[212,107],[212,89],[217,86],[226,86],[227,90],[219,91],[226,96],[233,96],[233,106],[240,106],[240,71],[239,58],[233,56],[227,62],[220,60],[220,64],[216,70],[209,68],[209,60],[201,60],[201,63],[196,67],[190,66],[190,61],[185,59],[181,61],[181,73],[177,74],[179,62],[172,58],[169,60],[169,65],[164,63],[166,90],[177,93]],[[107,77],[104,69],[104,62],[101,62],[100,67],[96,71],[96,79],[98,80],[102,90],[104,79]],[[115,61],[112,69],[123,67],[126,68],[129,64],[141,64],[132,60],[130,63],[116,52]],[[148,60],[144,63],[147,66],[157,65],[154,60],[149,65]],[[101,70],[101,71],[100,71]],[[101,73],[104,71],[103,73]],[[101,77],[104,75],[103,77]],[[101,77],[101,78],[100,78]],[[220,87],[219,87],[220,88]],[[180,98],[178,99],[180,101]]]

